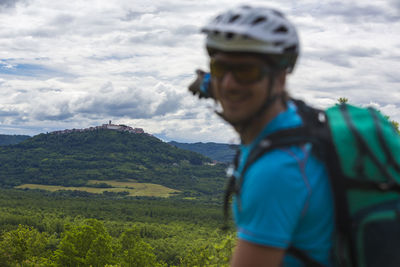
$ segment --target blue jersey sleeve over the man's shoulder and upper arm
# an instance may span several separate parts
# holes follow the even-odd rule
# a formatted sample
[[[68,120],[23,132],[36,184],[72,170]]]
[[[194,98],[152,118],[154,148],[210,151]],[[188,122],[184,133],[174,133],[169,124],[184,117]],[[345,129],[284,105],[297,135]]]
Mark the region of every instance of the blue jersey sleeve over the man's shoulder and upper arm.
[[[310,194],[299,165],[303,156],[299,147],[276,149],[249,167],[234,205],[239,238],[288,246]]]

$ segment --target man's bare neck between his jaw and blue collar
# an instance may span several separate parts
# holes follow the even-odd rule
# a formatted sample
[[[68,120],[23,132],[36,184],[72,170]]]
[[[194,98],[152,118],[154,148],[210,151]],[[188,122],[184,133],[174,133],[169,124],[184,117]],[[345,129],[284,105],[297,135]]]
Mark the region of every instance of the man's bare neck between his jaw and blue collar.
[[[279,113],[285,111],[286,107],[282,101],[275,101],[259,118],[254,119],[246,128],[238,131],[242,143],[247,145],[254,141],[257,136],[261,133],[264,127],[272,121]]]

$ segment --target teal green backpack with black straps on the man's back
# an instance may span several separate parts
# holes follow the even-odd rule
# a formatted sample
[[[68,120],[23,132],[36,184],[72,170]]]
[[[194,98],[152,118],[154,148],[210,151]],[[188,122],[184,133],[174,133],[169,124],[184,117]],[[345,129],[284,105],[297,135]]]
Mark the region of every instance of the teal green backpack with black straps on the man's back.
[[[273,133],[253,149],[240,177],[230,178],[225,218],[231,195],[239,194],[243,174],[261,155],[312,143],[327,165],[334,195],[336,266],[399,267],[400,135],[372,108],[341,104],[321,111],[293,101],[303,126]],[[322,266],[295,247],[288,252],[305,266]]]

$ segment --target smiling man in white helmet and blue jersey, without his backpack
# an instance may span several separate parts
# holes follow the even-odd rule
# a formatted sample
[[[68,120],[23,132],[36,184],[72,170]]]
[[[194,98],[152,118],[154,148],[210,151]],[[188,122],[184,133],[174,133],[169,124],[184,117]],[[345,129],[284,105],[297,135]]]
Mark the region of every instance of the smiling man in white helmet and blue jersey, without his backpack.
[[[299,51],[296,29],[276,10],[241,6],[219,14],[202,32],[210,56],[209,93],[240,135],[235,172],[241,173],[265,136],[302,124],[285,88]],[[311,148],[274,149],[242,173],[233,200],[238,243],[232,266],[304,266],[289,247],[332,265],[332,194],[326,168]]]

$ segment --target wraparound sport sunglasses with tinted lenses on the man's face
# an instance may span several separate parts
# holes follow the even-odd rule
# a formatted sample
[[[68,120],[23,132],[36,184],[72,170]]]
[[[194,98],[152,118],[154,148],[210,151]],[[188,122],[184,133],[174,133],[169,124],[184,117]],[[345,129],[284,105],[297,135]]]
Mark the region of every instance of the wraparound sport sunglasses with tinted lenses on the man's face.
[[[212,77],[222,80],[228,72],[232,73],[237,83],[251,84],[260,81],[272,70],[263,64],[230,64],[211,59],[210,73]]]

